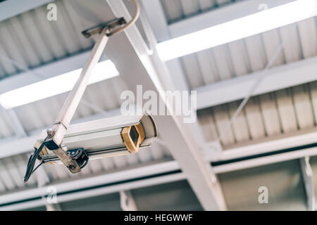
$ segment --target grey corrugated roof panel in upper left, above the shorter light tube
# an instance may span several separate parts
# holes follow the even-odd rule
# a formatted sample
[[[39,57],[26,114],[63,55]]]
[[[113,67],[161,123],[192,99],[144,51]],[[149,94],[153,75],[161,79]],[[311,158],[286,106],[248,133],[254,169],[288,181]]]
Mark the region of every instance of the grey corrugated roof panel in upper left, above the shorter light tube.
[[[85,39],[80,32],[85,30],[78,15],[68,3],[55,2],[58,21],[46,19],[46,6],[35,8],[0,23],[0,53],[34,68],[52,60],[92,47],[92,39]],[[21,68],[1,61],[0,76],[21,72]]]

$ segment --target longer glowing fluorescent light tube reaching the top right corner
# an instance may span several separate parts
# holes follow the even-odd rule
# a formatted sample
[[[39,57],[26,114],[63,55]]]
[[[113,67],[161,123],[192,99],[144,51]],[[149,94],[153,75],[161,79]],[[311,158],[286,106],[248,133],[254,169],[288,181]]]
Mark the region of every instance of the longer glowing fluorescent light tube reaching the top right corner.
[[[316,0],[297,0],[163,41],[156,47],[161,59],[166,61],[296,23],[316,15]]]

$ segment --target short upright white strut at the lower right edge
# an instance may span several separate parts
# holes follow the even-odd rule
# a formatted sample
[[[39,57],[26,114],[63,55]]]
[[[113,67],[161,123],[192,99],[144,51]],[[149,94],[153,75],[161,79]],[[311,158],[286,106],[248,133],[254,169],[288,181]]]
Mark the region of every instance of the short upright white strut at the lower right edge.
[[[313,185],[313,170],[309,164],[309,157],[306,156],[300,159],[302,176],[304,180],[304,186],[306,191],[306,203],[308,211],[315,211],[315,188]]]

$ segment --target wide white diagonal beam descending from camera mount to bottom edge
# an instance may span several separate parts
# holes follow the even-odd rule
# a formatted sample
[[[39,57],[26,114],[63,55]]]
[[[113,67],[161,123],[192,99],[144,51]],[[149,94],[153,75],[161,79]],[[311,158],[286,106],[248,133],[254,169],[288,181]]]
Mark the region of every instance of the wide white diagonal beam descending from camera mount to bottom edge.
[[[123,16],[126,20],[130,20],[130,13],[123,1],[108,0],[107,2],[116,17]],[[153,55],[149,56],[145,46],[142,35],[133,25],[125,30],[125,35],[119,34],[109,40],[106,55],[117,65],[121,77],[133,93],[137,94],[137,85],[142,84],[144,91],[151,90],[158,94],[158,102],[168,104],[159,93],[164,90],[173,91],[175,89],[173,82],[166,65],[155,49]],[[180,164],[202,207],[205,210],[225,210],[226,205],[220,184],[211,172],[210,165],[207,165],[201,157],[194,137],[186,124],[181,121],[182,117],[154,115],[154,120],[159,129],[159,135],[168,143],[173,158]]]

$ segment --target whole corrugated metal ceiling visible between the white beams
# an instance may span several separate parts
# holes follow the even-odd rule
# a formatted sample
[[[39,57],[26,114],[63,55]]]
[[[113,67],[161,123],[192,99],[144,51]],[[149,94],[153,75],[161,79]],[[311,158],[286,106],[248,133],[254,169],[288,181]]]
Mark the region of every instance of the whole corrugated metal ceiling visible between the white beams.
[[[94,0],[89,4],[80,1],[82,6],[87,6],[86,10],[96,11],[97,15],[104,13],[100,8],[104,7],[105,1]],[[89,21],[87,18],[80,18],[71,2],[56,1],[59,9],[58,23],[40,19],[46,18],[45,6],[1,22],[0,53],[32,69],[91,49],[92,39],[85,39],[80,34],[91,24],[86,23]],[[161,0],[161,4],[168,23],[174,23],[234,3],[231,0]],[[190,88],[195,89],[263,70],[281,42],[285,42],[285,46],[273,66],[311,58],[317,53],[316,32],[316,18],[311,18],[297,25],[281,27],[182,57],[182,70]],[[22,72],[21,68],[0,59],[0,79],[6,79],[19,72]],[[90,85],[84,99],[98,109],[108,111],[120,106],[119,96],[125,89],[126,84],[123,80],[115,77]],[[38,129],[51,125],[65,98],[66,94],[61,94],[15,108],[27,134],[33,134]],[[239,103],[240,101],[235,101],[199,110],[199,123],[206,134],[206,141],[215,140],[225,130]],[[97,113],[100,112],[96,108],[89,108],[81,103],[74,119]],[[311,82],[252,97],[223,136],[222,143],[228,148],[237,143],[248,143],[311,129],[316,127],[316,120],[317,82]],[[0,127],[0,139],[14,135],[8,115],[4,112],[0,115]],[[150,151],[144,150],[137,155],[96,161],[89,164],[82,174],[75,176],[71,176],[67,169],[60,166],[45,166],[44,169],[52,181],[59,182],[80,179],[92,174],[111,173],[116,169],[128,168],[129,165],[163,158],[170,158],[170,154],[166,148],[156,144]],[[22,183],[26,164],[26,154],[0,159],[0,193],[37,185],[34,176],[28,184]],[[269,184],[273,191],[273,201],[280,203],[273,204],[270,210],[289,207],[289,203],[294,204],[292,210],[305,209],[304,186],[297,160],[221,174],[219,179],[230,210],[258,209],[254,208],[254,200],[258,194],[254,191],[257,186],[262,186],[261,182]],[[249,195],[250,190],[253,191],[252,195]],[[263,207],[259,210],[263,210]]]

